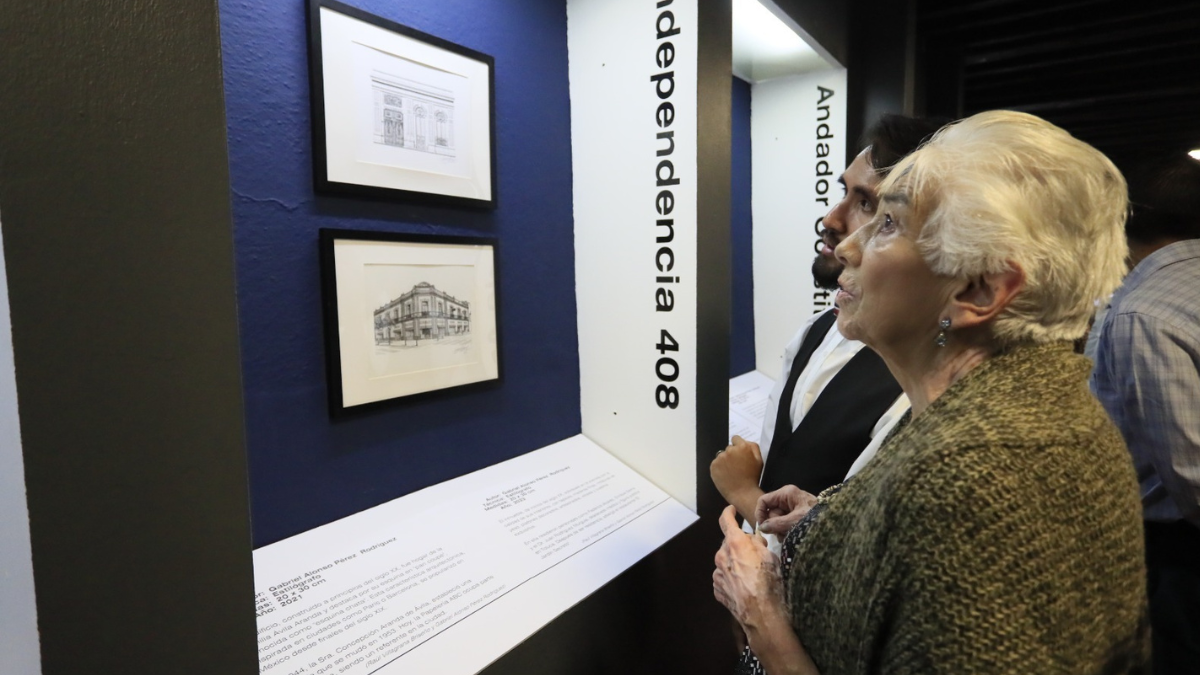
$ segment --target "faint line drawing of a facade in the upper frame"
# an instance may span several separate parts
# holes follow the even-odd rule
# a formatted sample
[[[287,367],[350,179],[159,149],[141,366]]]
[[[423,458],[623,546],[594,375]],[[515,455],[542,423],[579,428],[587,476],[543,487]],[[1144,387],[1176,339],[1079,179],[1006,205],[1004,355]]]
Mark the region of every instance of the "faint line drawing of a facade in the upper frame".
[[[452,91],[380,71],[372,71],[371,90],[376,143],[455,156]]]

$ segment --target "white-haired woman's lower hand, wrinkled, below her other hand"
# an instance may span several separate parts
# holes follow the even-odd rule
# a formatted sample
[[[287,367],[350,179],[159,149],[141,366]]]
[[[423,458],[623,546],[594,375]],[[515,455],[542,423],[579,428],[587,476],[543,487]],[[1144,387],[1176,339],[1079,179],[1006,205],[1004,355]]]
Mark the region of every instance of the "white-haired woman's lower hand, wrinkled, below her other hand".
[[[779,557],[762,537],[742,531],[733,510],[728,506],[721,513],[725,542],[716,551],[713,596],[746,628],[760,625],[764,613],[784,611],[784,590]]]

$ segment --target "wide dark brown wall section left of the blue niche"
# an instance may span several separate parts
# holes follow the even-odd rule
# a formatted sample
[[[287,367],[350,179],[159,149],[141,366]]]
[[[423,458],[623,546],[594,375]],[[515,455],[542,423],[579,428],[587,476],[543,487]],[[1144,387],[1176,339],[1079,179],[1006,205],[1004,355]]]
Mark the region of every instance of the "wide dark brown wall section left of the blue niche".
[[[257,673],[214,0],[0,5],[42,665]]]

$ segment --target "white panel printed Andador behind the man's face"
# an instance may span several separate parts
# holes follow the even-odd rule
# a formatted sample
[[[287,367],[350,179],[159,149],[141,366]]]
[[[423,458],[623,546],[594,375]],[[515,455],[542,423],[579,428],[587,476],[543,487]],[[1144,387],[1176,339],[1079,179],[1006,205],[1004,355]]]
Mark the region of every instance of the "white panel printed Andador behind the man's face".
[[[787,342],[833,301],[814,286],[811,267],[820,220],[841,199],[838,177],[853,143],[846,71],[755,84],[750,110],[755,359],[757,370],[778,377]]]

